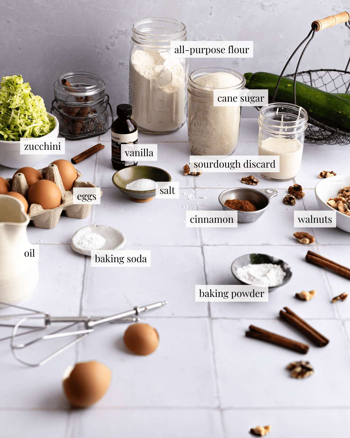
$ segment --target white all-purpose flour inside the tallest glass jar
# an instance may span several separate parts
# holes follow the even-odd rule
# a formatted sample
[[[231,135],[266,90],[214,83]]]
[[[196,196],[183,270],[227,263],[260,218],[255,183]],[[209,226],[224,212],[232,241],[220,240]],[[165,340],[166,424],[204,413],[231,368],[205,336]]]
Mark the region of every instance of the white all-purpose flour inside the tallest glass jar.
[[[159,50],[135,50],[130,62],[133,119],[146,131],[174,131],[185,122],[185,71]]]

